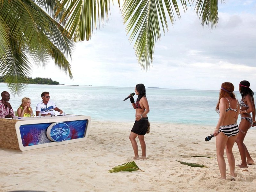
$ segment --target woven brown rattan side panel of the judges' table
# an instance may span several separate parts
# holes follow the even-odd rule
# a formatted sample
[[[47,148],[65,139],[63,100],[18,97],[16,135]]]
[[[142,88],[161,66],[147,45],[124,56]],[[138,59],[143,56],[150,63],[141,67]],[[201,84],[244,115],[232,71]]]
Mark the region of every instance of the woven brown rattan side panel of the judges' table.
[[[0,148],[20,150],[15,130],[17,121],[19,120],[0,118]]]

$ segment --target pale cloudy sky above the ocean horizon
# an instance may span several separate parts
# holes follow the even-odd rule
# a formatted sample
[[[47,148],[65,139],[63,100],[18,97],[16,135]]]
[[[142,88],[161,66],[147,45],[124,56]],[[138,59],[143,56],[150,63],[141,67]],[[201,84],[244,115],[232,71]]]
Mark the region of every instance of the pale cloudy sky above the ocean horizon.
[[[90,41],[76,44],[70,60],[74,80],[52,63],[34,68],[31,76],[52,78],[60,84],[170,89],[219,90],[223,82],[248,80],[256,91],[256,1],[219,2],[219,23],[202,27],[194,8],[181,11],[169,31],[156,43],[153,66],[142,71],[136,60],[117,3],[111,17]]]

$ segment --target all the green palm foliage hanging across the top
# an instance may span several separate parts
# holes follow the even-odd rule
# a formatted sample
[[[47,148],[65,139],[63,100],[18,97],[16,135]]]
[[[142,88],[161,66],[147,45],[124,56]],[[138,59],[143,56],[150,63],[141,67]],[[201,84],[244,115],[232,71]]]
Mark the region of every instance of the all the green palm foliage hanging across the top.
[[[222,1],[222,0],[221,0]],[[202,25],[218,23],[218,0],[116,0],[140,68],[149,70],[155,44],[180,19],[180,7],[195,6]],[[71,79],[67,60],[74,43],[89,40],[108,21],[114,0],[0,0],[0,76],[12,93],[26,87],[26,76],[49,60]]]

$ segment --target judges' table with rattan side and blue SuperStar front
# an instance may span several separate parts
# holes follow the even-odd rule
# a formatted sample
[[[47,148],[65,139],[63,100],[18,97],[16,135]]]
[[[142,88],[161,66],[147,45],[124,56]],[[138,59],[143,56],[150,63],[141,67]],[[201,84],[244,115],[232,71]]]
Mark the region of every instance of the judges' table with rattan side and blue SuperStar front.
[[[0,148],[21,151],[84,141],[90,116],[42,116],[0,119]]]

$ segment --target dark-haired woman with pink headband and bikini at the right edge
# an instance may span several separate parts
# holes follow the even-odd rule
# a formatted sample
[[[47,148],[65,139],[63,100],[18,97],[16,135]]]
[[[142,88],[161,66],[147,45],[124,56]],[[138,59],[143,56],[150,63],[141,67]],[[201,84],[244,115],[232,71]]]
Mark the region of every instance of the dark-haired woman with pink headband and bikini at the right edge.
[[[241,93],[242,99],[240,101],[240,114],[241,122],[239,124],[239,133],[236,139],[236,144],[239,149],[242,163],[237,165],[240,168],[247,168],[247,164],[251,165],[254,163],[252,157],[250,156],[246,146],[244,145],[244,138],[247,131],[251,126],[255,126],[255,104],[253,98],[253,92],[250,89],[249,81],[241,81],[239,84],[239,92]],[[251,117],[252,113],[252,117]],[[246,161],[247,158],[247,161]]]

